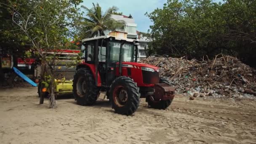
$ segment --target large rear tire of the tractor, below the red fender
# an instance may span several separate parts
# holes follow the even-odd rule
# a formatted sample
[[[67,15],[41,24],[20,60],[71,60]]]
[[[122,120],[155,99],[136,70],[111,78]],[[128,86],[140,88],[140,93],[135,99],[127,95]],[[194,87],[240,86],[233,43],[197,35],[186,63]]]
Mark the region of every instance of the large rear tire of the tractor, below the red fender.
[[[76,71],[73,80],[73,93],[79,105],[89,106],[96,102],[99,88],[95,85],[90,69],[80,68]]]

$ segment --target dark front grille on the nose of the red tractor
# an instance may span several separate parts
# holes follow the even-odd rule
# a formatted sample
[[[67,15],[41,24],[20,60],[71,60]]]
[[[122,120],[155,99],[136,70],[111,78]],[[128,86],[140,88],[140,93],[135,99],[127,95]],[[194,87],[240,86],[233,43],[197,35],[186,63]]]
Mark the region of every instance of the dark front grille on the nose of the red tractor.
[[[149,72],[142,70],[142,77],[144,84],[156,84],[159,83],[159,72]]]

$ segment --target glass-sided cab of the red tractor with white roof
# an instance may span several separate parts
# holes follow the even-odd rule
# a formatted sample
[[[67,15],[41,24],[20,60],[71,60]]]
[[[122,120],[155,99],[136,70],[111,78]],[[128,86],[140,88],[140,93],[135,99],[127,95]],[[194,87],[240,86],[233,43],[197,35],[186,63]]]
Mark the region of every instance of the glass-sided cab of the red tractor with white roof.
[[[85,63],[95,66],[97,86],[109,87],[116,76],[131,75],[132,67],[137,62],[137,40],[122,37],[101,36],[82,40]],[[81,64],[80,66],[82,66]],[[123,68],[122,68],[123,67]],[[99,82],[100,80],[100,82]]]

